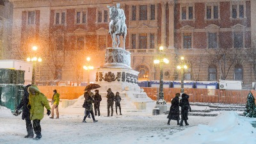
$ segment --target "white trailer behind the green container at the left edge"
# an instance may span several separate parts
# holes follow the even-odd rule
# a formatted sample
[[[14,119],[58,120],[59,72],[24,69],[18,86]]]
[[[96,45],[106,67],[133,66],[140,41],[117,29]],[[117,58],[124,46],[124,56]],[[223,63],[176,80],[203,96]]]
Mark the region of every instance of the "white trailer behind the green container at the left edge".
[[[33,63],[19,60],[0,60],[0,68],[13,68],[15,70],[24,70],[24,85],[31,84]]]

